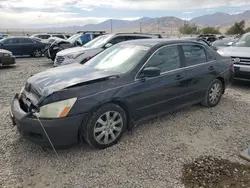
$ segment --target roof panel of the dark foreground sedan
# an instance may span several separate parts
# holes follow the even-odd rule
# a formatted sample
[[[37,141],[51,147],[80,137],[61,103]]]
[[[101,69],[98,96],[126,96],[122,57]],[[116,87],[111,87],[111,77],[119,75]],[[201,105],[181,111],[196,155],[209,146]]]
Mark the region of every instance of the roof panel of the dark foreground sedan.
[[[153,47],[156,45],[170,45],[170,44],[176,44],[176,43],[194,43],[203,45],[201,42],[195,41],[195,40],[183,40],[183,39],[139,39],[139,40],[130,40],[124,42],[126,44],[133,44],[133,45],[142,45],[142,46],[148,46]]]

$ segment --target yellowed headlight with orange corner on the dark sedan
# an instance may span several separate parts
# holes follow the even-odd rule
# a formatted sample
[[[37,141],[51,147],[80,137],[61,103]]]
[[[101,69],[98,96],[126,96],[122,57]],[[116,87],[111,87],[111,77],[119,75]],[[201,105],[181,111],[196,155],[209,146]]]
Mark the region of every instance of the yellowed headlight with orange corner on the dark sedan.
[[[69,111],[75,104],[77,98],[58,101],[47,104],[40,108],[38,117],[40,118],[62,118],[68,115]]]

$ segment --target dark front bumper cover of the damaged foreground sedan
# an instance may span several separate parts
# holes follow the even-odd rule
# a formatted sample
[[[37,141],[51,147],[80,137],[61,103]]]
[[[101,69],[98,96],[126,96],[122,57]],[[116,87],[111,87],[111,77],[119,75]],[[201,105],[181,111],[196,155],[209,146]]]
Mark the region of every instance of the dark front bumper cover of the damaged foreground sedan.
[[[36,117],[24,112],[19,103],[18,95],[11,103],[11,117],[21,136],[35,144],[50,147],[50,143]],[[65,147],[78,143],[81,123],[87,115],[75,115],[58,119],[40,119],[50,140],[55,147]]]

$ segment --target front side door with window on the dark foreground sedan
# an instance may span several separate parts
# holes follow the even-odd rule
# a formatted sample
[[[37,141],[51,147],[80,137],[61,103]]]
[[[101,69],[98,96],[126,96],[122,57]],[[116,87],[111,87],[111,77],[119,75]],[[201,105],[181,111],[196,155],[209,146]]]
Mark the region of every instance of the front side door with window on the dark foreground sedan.
[[[181,66],[177,45],[161,47],[151,56],[142,70],[157,67],[161,70],[161,75],[139,78],[140,72],[138,73],[131,88],[134,93],[129,99],[135,112],[133,119],[139,120],[164,111],[172,111],[185,103],[185,71]]]

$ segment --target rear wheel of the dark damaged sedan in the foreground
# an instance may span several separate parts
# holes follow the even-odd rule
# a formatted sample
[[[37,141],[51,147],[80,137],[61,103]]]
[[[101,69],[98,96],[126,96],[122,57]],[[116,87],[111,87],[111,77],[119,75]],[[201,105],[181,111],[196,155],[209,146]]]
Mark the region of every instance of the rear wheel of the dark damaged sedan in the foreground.
[[[220,80],[215,79],[208,87],[206,96],[201,102],[205,107],[215,107],[223,95],[223,84]]]

